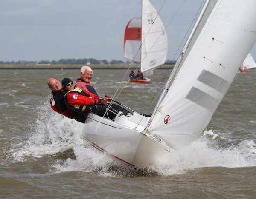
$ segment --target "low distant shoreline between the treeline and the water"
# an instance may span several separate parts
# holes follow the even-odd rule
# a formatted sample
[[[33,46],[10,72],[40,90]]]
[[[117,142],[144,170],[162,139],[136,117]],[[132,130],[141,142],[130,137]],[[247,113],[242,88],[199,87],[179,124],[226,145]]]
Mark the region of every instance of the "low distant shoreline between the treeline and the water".
[[[49,65],[39,66],[38,65],[0,65],[0,70],[80,70],[81,66],[74,65]],[[130,65],[89,65],[93,70],[123,70],[128,69]],[[161,65],[157,69],[172,69],[174,65]],[[136,70],[137,66],[130,66],[129,70]]]

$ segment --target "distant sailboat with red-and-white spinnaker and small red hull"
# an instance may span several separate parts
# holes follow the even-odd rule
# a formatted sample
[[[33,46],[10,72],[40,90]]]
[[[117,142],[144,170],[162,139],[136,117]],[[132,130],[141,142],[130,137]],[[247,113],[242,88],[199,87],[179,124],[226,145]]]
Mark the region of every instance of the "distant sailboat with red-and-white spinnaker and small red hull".
[[[124,56],[135,63],[140,63],[143,75],[152,75],[153,70],[166,61],[168,41],[165,27],[149,0],[142,0],[141,18],[131,19],[125,28]],[[133,79],[130,82],[150,83]]]

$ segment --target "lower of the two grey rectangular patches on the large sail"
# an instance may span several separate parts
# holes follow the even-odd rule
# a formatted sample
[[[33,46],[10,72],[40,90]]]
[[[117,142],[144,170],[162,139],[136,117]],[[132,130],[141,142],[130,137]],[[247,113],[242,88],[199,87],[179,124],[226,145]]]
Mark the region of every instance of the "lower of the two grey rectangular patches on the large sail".
[[[211,112],[214,112],[219,104],[219,101],[217,99],[195,87],[191,88],[189,94],[187,94],[186,96],[186,99],[189,99],[190,101],[201,105],[202,107],[208,109]]]

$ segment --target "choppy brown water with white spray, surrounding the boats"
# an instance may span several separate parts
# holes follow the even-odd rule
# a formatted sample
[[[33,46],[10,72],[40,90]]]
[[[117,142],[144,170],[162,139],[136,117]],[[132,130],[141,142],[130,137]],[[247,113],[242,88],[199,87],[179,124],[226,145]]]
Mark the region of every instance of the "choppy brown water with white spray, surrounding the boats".
[[[51,110],[49,77],[79,70],[0,70],[0,198],[255,198],[256,70],[237,74],[200,139],[147,168],[128,168],[84,146],[83,125]],[[94,70],[99,95],[150,113],[164,70],[150,85],[124,70]]]

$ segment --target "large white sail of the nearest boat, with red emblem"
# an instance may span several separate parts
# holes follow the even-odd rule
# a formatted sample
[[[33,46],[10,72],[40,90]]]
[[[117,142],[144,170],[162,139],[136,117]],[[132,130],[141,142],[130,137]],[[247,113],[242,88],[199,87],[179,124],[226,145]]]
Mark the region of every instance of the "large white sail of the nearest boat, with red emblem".
[[[202,133],[256,41],[255,10],[255,0],[205,4],[147,133],[172,148],[188,145]]]

